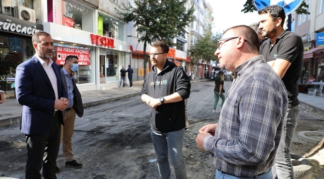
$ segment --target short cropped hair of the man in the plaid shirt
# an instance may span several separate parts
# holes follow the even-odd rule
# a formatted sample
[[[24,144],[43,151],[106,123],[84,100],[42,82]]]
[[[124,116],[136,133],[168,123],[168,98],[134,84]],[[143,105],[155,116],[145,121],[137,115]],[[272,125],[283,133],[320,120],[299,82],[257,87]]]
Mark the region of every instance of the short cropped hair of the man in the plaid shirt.
[[[251,50],[259,52],[260,50],[259,37],[258,34],[251,27],[247,25],[237,25],[226,29],[223,32],[223,34],[225,34],[225,32],[231,29],[235,30],[238,36],[243,36],[247,40],[247,45],[250,47]]]

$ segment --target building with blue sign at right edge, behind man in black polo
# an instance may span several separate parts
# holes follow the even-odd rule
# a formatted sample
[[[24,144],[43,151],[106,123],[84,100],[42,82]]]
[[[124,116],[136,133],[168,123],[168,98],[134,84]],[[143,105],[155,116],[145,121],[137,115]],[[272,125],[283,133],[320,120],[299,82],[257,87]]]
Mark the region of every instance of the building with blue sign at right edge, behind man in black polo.
[[[295,15],[295,32],[304,42],[304,66],[300,84],[315,75],[324,80],[324,0],[304,0],[310,14]]]

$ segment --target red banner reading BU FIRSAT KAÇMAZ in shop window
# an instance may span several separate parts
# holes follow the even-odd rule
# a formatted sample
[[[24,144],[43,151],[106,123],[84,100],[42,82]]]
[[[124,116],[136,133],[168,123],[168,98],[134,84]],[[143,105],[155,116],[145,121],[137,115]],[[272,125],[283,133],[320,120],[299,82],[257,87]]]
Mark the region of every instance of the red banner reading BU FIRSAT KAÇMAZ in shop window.
[[[79,58],[79,65],[90,65],[90,50],[70,47],[56,47],[56,63],[64,65],[65,58],[75,55]]]

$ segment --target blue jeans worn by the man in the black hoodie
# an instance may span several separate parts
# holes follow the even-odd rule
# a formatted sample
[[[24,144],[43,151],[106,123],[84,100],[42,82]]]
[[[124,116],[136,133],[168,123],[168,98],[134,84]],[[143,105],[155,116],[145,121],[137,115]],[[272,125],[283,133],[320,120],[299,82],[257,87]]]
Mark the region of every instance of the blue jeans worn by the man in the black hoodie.
[[[151,131],[161,179],[170,179],[170,165],[174,168],[176,179],[186,179],[187,171],[182,155],[184,128],[178,131],[165,132],[158,135]]]

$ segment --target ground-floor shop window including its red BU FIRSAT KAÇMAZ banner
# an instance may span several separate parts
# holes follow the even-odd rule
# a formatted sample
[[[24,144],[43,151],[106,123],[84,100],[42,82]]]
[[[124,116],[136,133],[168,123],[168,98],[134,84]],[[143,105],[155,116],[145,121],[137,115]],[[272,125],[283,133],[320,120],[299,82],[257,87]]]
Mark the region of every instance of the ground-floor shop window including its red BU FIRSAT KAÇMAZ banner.
[[[54,43],[53,61],[63,67],[65,58],[68,55],[75,55],[79,58],[79,70],[74,73],[77,84],[94,83],[94,62],[91,61],[92,47],[79,47]]]

